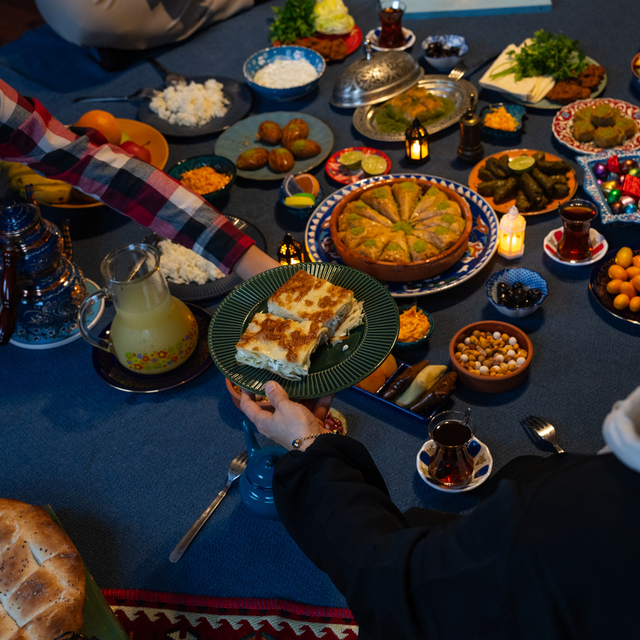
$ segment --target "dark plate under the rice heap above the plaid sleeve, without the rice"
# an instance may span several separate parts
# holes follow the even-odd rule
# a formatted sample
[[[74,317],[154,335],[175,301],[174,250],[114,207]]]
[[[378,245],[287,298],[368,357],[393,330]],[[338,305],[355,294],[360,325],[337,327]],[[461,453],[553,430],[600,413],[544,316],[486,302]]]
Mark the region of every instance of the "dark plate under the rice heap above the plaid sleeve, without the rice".
[[[171,124],[167,120],[163,120],[157,113],[154,113],[149,108],[149,100],[143,100],[142,104],[138,108],[138,120],[151,125],[154,129],[157,129],[165,136],[172,136],[174,138],[195,138],[197,136],[208,136],[213,133],[223,131],[227,127],[230,127],[238,120],[241,120],[247,115],[247,112],[251,108],[252,97],[251,91],[246,84],[233,80],[232,78],[222,77],[195,77],[188,78],[194,82],[203,84],[207,80],[217,80],[222,84],[222,93],[224,97],[229,101],[229,110],[225,115],[220,118],[212,118],[209,122],[199,125],[197,127],[185,127],[179,124]],[[230,158],[233,160],[233,158]]]

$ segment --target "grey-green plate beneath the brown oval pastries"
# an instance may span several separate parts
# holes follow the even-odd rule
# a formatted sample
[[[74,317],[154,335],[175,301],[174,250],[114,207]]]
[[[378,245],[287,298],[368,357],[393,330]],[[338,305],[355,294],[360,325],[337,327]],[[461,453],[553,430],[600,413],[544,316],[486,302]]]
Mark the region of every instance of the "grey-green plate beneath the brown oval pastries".
[[[268,151],[275,149],[276,147],[273,145],[263,144],[258,141],[258,127],[265,120],[271,120],[284,127],[294,118],[302,118],[309,125],[307,138],[320,145],[320,153],[307,160],[296,160],[293,169],[285,173],[276,173],[267,165],[256,171],[238,169],[238,176],[249,178],[250,180],[284,180],[290,173],[294,175],[306,173],[309,169],[318,166],[331,153],[331,149],[333,149],[333,133],[322,120],[300,111],[272,111],[271,113],[249,116],[229,127],[220,135],[216,142],[215,153],[218,156],[229,158],[235,163],[238,156],[247,149],[254,147],[264,147]]]

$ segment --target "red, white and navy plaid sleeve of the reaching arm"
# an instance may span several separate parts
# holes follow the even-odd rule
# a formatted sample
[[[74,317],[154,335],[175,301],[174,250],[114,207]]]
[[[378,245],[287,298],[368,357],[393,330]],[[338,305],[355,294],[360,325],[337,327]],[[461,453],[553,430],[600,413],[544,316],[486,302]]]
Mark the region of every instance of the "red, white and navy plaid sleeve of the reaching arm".
[[[224,273],[254,241],[201,196],[163,171],[107,144],[93,129],[77,135],[37,100],[0,80],[0,158],[63,180],[83,193],[193,249]]]

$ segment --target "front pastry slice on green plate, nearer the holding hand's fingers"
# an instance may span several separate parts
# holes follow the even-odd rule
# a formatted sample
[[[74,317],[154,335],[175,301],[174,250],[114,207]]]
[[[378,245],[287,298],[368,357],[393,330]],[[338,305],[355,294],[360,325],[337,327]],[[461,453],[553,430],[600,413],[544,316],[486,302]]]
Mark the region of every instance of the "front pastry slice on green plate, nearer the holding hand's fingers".
[[[309,373],[311,354],[327,339],[327,333],[317,321],[256,313],[236,344],[236,360],[287,380],[301,380]]]

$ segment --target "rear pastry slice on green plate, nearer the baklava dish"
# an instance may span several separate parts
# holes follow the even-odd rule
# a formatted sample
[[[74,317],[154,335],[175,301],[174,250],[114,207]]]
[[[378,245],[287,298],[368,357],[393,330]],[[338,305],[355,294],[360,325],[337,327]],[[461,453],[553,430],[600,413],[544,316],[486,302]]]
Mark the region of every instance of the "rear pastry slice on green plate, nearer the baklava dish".
[[[296,271],[268,300],[268,311],[282,318],[319,322],[333,338],[343,321],[356,312],[362,319],[362,303],[353,291],[316,278],[304,269]]]

